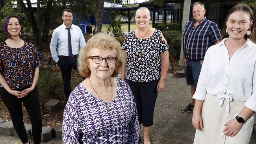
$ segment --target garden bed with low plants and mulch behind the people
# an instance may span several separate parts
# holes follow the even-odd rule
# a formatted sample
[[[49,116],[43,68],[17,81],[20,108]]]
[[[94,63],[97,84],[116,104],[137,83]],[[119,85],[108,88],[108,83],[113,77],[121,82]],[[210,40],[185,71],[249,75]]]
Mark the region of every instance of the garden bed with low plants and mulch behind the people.
[[[90,37],[91,37],[90,35],[85,35],[85,39],[89,39]],[[48,57],[51,56],[49,49],[45,49],[45,50],[41,51],[41,54],[43,55],[43,57],[45,59],[48,59]],[[179,62],[178,59],[174,59],[170,56],[170,61],[171,61],[172,67],[173,67],[174,76],[176,75],[176,70],[184,70],[184,66],[178,66],[178,62]],[[52,63],[55,63],[55,62],[52,61]],[[45,71],[48,71],[48,73],[46,73]],[[51,76],[54,75],[54,79],[50,78],[50,75]],[[41,79],[46,80],[46,82],[45,82],[45,81],[41,81],[41,79],[39,79],[39,81],[37,83],[37,87],[39,89],[39,94],[41,93],[40,104],[41,104],[41,115],[42,115],[43,126],[54,127],[54,126],[57,126],[62,123],[63,111],[64,111],[64,108],[65,108],[65,105],[67,102],[67,100],[64,96],[63,87],[61,86],[62,79],[61,79],[60,69],[58,66],[48,65],[48,61],[45,61],[44,65],[40,68],[39,76]],[[52,81],[54,81],[54,83],[52,83]],[[72,77],[71,77],[72,87],[75,88],[76,85],[78,85],[82,81],[83,81],[83,79],[78,74],[78,72],[73,70]],[[55,83],[58,83],[58,84],[56,85]],[[49,86],[50,84],[52,84],[52,86]],[[40,85],[43,85],[43,87],[40,87]],[[46,87],[46,86],[48,86],[48,87]],[[56,94],[54,94],[54,96],[48,96],[49,94],[52,95],[52,93],[54,93],[54,92],[49,92],[47,90],[50,88],[52,90],[54,90],[54,92],[56,93]],[[55,112],[46,111],[46,109],[44,108],[44,105],[50,99],[60,100],[61,107],[58,111],[55,111]],[[0,99],[0,109],[1,109],[0,120],[11,121],[9,112],[1,99]],[[26,112],[26,109],[23,104],[22,104],[22,111],[23,111],[24,123],[31,124],[30,118],[29,118],[28,113]]]

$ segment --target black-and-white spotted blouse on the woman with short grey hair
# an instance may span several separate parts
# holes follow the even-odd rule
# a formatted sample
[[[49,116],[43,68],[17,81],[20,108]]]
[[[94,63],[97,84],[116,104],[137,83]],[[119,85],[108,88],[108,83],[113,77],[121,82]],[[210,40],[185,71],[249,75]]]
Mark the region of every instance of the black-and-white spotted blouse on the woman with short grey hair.
[[[126,79],[134,82],[158,80],[161,72],[160,54],[168,49],[160,30],[155,30],[147,39],[138,39],[135,31],[128,33],[122,45],[122,50],[126,50]]]

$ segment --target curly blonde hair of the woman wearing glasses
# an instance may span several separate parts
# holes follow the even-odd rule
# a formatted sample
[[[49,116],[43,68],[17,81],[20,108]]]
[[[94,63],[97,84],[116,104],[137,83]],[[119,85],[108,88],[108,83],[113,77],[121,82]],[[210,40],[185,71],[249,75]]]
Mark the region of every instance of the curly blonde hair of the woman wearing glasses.
[[[117,76],[122,65],[121,44],[114,37],[105,33],[97,33],[91,37],[91,39],[87,41],[86,46],[80,50],[78,55],[78,71],[80,75],[85,78],[88,78],[91,75],[91,70],[88,67],[88,57],[93,48],[102,51],[115,50],[115,70],[111,76]]]

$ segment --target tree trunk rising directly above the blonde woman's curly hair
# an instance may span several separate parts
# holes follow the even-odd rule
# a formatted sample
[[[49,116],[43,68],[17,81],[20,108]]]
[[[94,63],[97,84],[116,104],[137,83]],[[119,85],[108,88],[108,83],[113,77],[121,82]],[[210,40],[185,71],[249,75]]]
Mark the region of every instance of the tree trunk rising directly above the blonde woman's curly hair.
[[[95,15],[96,15],[96,24],[95,24],[95,33],[100,33],[102,28],[102,19],[104,11],[104,0],[95,0]]]

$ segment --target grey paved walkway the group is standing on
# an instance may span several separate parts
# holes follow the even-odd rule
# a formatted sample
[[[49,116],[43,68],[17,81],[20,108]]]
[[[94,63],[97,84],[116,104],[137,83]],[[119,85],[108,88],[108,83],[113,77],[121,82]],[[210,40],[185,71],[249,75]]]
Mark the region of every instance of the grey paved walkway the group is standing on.
[[[192,113],[180,112],[189,102],[190,89],[186,79],[168,75],[165,90],[158,94],[156,102],[151,130],[152,144],[193,144],[195,129],[191,123]],[[0,135],[0,144],[15,142],[21,144],[19,138]],[[62,141],[54,139],[43,144],[62,144]],[[250,144],[256,144],[256,138],[252,137]]]

